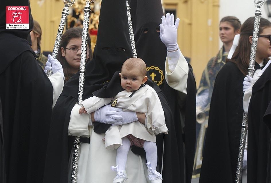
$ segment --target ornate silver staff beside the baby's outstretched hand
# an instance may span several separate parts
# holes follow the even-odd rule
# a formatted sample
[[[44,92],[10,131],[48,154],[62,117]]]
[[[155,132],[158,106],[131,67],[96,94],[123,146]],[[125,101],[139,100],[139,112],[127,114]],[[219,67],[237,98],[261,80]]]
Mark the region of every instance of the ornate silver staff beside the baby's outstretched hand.
[[[89,17],[91,13],[90,4],[94,3],[95,0],[86,0],[86,6],[84,8],[84,20],[83,20],[83,33],[82,33],[82,45],[81,45],[81,61],[79,69],[79,87],[78,87],[78,100],[77,103],[82,106],[83,101],[83,90],[85,83],[85,67],[87,61],[87,40],[88,40],[88,27],[89,27]],[[90,46],[90,45],[89,45]],[[73,145],[73,164],[71,172],[71,182],[77,182],[77,168],[78,168],[78,159],[79,159],[79,145],[80,137],[75,137]]]

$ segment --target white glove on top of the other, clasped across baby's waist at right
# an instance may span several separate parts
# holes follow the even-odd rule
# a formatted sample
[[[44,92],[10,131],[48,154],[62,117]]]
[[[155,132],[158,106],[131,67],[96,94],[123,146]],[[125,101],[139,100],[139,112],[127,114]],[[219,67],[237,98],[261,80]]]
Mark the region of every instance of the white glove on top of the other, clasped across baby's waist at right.
[[[108,121],[112,121],[112,126],[118,126],[138,120],[137,113],[134,111],[108,111],[105,112],[105,114],[110,115],[111,119]]]

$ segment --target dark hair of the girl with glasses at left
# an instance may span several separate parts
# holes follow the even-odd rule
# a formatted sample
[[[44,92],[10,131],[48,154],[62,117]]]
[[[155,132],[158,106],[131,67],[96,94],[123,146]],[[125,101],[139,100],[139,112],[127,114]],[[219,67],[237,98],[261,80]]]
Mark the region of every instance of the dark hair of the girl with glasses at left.
[[[64,83],[66,81],[68,81],[70,79],[70,77],[73,76],[73,73],[71,73],[71,66],[67,63],[65,57],[63,57],[61,54],[61,48],[63,47],[64,50],[66,51],[67,44],[69,44],[70,40],[73,38],[82,38],[82,32],[83,32],[82,28],[73,27],[73,28],[68,29],[61,37],[61,41],[60,41],[60,45],[59,45],[58,52],[56,55],[56,59],[61,63],[61,65],[63,67],[64,76],[65,76]],[[93,53],[91,50],[91,43],[90,43],[89,34],[87,34],[87,37],[88,37],[87,44],[89,47],[89,59],[87,60],[87,62],[88,62],[93,59]]]

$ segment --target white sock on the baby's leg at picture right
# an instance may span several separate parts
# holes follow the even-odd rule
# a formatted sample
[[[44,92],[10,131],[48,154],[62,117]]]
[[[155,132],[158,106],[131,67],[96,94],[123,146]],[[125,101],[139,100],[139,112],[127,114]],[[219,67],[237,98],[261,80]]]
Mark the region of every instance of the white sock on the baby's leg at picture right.
[[[155,142],[145,141],[143,148],[146,152],[147,162],[151,162],[151,168],[156,170],[157,166],[157,147]]]

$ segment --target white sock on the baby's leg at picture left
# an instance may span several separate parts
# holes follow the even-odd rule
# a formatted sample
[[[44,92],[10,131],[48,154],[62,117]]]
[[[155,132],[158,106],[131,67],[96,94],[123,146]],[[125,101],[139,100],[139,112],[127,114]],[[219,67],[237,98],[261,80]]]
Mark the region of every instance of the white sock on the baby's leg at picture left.
[[[127,155],[128,155],[128,151],[130,149],[131,143],[129,139],[127,139],[127,137],[123,137],[121,139],[122,139],[122,145],[117,149],[116,163],[118,165],[119,170],[125,171]]]

